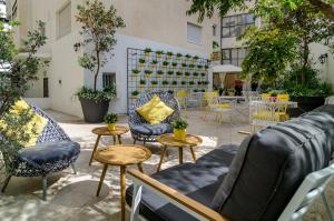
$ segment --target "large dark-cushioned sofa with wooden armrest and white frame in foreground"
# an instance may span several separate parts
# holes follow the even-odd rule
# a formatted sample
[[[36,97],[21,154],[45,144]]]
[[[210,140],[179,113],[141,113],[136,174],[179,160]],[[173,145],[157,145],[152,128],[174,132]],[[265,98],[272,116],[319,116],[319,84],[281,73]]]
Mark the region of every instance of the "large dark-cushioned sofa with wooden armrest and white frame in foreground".
[[[127,190],[131,219],[140,214],[155,221],[277,220],[286,214],[285,210],[293,210],[288,220],[294,220],[295,213],[304,212],[308,204],[298,201],[299,207],[295,207],[295,199],[311,199],[317,191],[305,189],[303,181],[310,180],[308,174],[315,181],[314,188],[321,187],[318,190],[332,175],[318,174],[331,163],[333,135],[334,106],[324,106],[265,128],[239,147],[215,149],[196,163],[168,168],[150,177],[131,170],[128,175],[134,185]],[[306,190],[303,195],[302,190]]]

